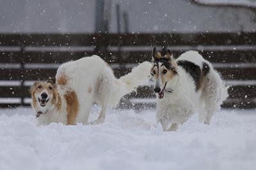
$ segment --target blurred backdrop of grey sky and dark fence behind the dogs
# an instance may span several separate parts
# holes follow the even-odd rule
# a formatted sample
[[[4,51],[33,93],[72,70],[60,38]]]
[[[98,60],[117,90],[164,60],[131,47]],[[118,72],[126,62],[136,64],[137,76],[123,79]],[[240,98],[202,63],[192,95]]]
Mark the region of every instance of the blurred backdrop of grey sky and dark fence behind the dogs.
[[[255,0],[0,0],[0,107],[29,105],[29,86],[97,54],[120,77],[152,47],[198,50],[231,86],[225,108],[256,109]],[[152,86],[121,108],[156,106]]]

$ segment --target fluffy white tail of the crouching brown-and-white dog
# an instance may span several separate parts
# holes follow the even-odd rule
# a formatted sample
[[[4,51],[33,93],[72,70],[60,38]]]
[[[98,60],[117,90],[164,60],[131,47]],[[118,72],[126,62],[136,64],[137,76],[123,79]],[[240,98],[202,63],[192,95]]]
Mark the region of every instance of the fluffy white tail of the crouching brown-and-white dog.
[[[134,91],[138,86],[146,84],[150,76],[151,63],[144,61],[140,65],[132,68],[127,75],[120,77],[116,81],[116,93],[113,94],[113,106],[118,104],[120,98]]]

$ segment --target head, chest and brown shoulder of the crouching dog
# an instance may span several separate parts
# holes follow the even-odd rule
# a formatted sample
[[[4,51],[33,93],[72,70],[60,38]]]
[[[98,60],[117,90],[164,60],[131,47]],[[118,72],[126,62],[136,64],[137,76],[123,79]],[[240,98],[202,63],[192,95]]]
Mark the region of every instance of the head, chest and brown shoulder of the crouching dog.
[[[51,122],[74,125],[79,107],[74,91],[63,91],[51,82],[35,82],[30,92],[38,125]]]

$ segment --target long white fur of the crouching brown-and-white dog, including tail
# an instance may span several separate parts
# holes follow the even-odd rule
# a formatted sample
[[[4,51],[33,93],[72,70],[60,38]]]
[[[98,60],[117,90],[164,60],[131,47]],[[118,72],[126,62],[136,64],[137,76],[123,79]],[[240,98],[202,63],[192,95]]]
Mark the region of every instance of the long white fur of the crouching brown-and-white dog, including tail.
[[[79,112],[76,123],[88,124],[88,117],[94,102],[100,105],[99,118],[93,124],[102,123],[106,117],[106,109],[115,107],[127,93],[148,81],[151,64],[143,62],[132,68],[132,72],[116,79],[113,70],[99,56],[81,58],[76,61],[63,63],[56,73],[56,80],[63,73],[67,76],[67,84],[58,84],[59,91],[72,89],[77,94]],[[91,89],[91,90],[90,90]],[[91,92],[90,92],[91,91]],[[53,112],[47,123],[56,122],[54,119],[67,124],[67,112]],[[45,118],[40,116],[38,120]]]

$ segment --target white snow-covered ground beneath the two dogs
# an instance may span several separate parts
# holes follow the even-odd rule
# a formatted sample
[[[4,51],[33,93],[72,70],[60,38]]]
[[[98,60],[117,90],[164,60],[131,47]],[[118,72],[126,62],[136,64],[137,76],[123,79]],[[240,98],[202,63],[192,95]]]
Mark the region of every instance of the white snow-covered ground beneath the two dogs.
[[[31,109],[0,109],[0,169],[255,168],[255,110],[221,111],[210,126],[195,115],[177,132],[162,132],[154,114],[109,111],[102,125],[35,127]]]

